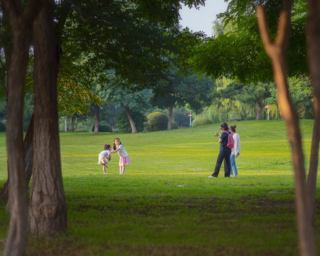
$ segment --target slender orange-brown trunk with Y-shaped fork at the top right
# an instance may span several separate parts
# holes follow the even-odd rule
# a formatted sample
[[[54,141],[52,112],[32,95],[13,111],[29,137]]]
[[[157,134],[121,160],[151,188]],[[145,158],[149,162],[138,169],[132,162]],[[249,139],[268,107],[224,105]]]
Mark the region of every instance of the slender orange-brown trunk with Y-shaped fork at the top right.
[[[292,148],[300,254],[314,256],[316,255],[316,245],[311,225],[311,200],[307,195],[306,189],[306,172],[304,169],[299,119],[292,105],[287,82],[287,49],[289,45],[291,9],[292,0],[285,0],[284,7],[280,13],[277,38],[274,43],[271,42],[270,35],[267,32],[267,19],[262,6],[257,7],[258,24],[265,50],[272,60],[274,80],[278,90],[279,108],[282,117],[287,123],[289,142]]]

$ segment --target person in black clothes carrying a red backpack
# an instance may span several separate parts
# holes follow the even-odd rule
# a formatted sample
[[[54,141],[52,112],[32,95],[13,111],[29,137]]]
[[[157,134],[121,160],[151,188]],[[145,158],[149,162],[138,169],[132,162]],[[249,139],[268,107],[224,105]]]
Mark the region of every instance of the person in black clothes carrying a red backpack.
[[[222,162],[224,161],[225,165],[225,177],[230,177],[231,165],[230,165],[230,155],[231,149],[228,149],[228,136],[231,134],[229,132],[229,127],[226,122],[220,124],[220,129],[222,133],[215,133],[215,137],[220,136],[218,142],[220,143],[220,152],[218,155],[217,163],[215,164],[215,171],[208,178],[217,178],[219,175],[220,167]]]

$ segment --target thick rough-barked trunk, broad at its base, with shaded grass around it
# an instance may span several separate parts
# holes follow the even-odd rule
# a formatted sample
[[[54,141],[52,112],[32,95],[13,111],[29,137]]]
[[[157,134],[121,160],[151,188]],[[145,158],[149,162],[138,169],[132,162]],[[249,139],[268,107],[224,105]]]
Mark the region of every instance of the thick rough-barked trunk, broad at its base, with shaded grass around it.
[[[53,4],[43,1],[33,24],[34,133],[29,227],[36,236],[61,233],[67,228],[58,134]]]

